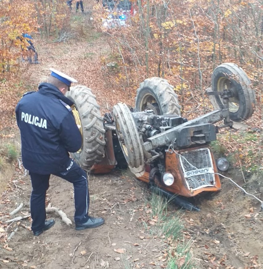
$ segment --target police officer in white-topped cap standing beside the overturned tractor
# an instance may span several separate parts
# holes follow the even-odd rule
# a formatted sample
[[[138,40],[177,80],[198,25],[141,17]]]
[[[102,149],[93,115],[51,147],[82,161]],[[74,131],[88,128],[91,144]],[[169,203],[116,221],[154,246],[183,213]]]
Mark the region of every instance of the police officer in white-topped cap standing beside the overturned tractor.
[[[30,199],[32,231],[38,236],[55,224],[46,221],[45,197],[50,174],[59,176],[74,186],[76,230],[94,228],[103,218],[88,215],[89,189],[86,172],[69,152],[81,148],[82,137],[65,97],[74,78],[56,70],[36,92],[28,92],[16,106],[16,120],[21,134],[23,166],[29,170],[32,193]]]

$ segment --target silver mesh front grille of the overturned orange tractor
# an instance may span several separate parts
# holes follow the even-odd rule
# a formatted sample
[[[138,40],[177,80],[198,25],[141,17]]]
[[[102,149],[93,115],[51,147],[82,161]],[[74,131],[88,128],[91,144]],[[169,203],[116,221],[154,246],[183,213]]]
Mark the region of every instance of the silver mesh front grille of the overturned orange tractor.
[[[180,153],[180,162],[189,190],[215,186],[215,175],[210,149],[195,149]]]

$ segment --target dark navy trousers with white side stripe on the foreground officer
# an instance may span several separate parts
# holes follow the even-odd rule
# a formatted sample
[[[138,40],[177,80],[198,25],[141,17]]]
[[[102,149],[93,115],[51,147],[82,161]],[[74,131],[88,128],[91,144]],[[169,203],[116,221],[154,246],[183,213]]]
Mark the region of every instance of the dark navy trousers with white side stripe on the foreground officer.
[[[33,232],[40,231],[45,225],[46,219],[46,192],[49,187],[50,174],[37,174],[29,171],[32,193],[30,198],[30,208],[32,217]],[[86,172],[78,166],[73,159],[69,159],[67,168],[64,171],[54,173],[74,186],[75,199],[75,223],[84,223],[88,220],[88,210],[90,204],[89,188]]]

